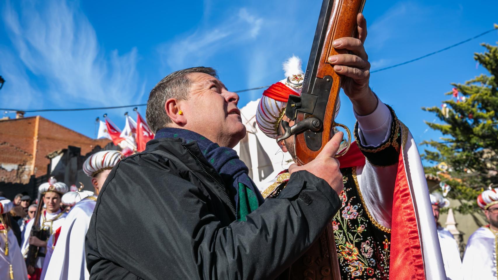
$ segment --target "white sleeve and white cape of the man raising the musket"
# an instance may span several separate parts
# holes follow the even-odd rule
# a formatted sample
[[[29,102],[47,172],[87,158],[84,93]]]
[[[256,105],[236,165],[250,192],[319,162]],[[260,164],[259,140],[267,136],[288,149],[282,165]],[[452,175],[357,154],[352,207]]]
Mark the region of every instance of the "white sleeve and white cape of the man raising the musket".
[[[363,146],[375,147],[387,140],[392,118],[387,106],[380,100],[371,114],[359,116],[355,112],[355,116],[359,126],[359,141]],[[403,159],[413,207],[417,213],[425,277],[431,280],[444,280],[447,277],[434,223],[429,188],[417,145],[410,132],[403,150]],[[365,206],[376,222],[389,229],[392,221],[392,194],[396,173],[397,165],[376,167],[368,160],[364,166],[357,167],[358,186],[365,200]]]

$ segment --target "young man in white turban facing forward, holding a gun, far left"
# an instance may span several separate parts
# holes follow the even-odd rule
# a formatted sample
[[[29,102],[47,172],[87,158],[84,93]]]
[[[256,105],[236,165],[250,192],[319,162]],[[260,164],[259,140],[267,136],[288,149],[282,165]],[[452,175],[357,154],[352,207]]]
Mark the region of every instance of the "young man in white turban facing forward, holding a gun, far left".
[[[40,214],[40,219],[36,221],[40,223],[40,229],[48,231],[47,240],[40,240],[36,236],[30,236],[31,228],[34,223],[34,218],[27,224],[24,232],[24,243],[21,246],[24,258],[27,257],[29,245],[39,247],[36,263],[34,267],[28,266],[27,271],[31,280],[39,280],[42,270],[48,265],[45,258],[50,258],[53,251],[54,243],[57,242],[60,227],[64,222],[67,213],[63,212],[60,207],[61,197],[69,190],[69,187],[62,183],[57,182],[55,178],[50,178],[48,182],[43,183],[38,187],[38,191],[42,194],[45,209]]]

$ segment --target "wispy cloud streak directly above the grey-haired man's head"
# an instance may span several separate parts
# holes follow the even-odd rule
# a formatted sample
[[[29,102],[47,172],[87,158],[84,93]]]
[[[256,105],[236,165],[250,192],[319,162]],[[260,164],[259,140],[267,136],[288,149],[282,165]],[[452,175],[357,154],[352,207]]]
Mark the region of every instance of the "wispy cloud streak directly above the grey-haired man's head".
[[[208,7],[205,7],[205,10],[209,10]],[[158,52],[163,65],[172,70],[200,65],[214,54],[233,47],[234,44],[256,38],[262,23],[262,18],[250,14],[245,8],[240,8],[236,15],[217,25],[203,24],[189,35],[180,36],[173,42],[160,45]]]

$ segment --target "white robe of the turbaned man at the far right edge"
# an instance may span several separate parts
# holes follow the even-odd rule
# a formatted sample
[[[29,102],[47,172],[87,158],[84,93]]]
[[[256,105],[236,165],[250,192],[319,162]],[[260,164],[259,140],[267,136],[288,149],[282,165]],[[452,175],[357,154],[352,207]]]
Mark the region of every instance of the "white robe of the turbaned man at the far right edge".
[[[497,280],[497,239],[488,227],[470,236],[462,264],[464,280]]]

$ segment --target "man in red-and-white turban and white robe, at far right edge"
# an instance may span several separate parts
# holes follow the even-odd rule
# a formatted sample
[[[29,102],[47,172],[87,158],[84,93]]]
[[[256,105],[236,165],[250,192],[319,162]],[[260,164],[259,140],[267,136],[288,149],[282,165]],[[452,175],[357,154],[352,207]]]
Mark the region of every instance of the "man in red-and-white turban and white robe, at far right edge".
[[[487,189],[477,197],[489,224],[470,237],[462,262],[464,280],[496,280],[498,259],[498,188]]]

